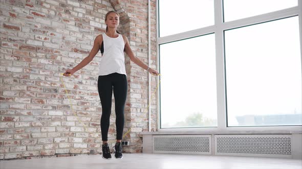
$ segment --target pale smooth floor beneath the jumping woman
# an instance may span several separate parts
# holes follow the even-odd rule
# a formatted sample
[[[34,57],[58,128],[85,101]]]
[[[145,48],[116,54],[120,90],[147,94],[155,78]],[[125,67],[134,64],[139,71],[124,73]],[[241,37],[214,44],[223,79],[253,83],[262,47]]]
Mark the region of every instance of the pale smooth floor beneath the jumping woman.
[[[80,155],[23,160],[1,160],[1,169],[301,169],[302,160],[267,157],[124,154],[123,159],[104,160],[101,155]]]

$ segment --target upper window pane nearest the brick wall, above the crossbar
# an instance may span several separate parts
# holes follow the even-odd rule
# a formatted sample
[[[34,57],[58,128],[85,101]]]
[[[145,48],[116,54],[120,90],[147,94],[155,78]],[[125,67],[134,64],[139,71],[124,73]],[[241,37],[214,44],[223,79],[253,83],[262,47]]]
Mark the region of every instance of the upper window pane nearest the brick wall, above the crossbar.
[[[159,0],[160,37],[196,30],[213,24],[213,0]]]

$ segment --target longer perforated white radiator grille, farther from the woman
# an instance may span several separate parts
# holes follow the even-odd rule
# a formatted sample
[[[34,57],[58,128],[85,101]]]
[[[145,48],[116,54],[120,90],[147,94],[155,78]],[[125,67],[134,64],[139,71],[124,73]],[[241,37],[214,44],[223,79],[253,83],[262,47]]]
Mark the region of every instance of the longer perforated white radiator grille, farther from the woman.
[[[215,135],[215,154],[291,158],[291,135]]]

